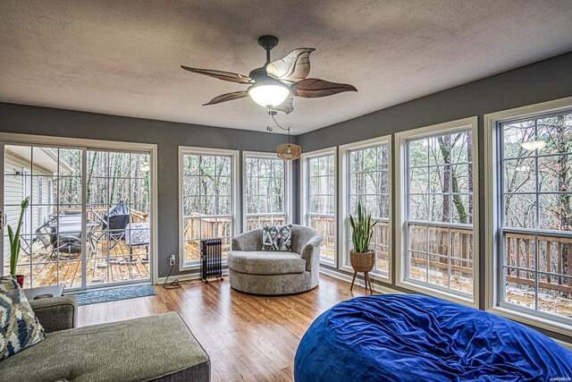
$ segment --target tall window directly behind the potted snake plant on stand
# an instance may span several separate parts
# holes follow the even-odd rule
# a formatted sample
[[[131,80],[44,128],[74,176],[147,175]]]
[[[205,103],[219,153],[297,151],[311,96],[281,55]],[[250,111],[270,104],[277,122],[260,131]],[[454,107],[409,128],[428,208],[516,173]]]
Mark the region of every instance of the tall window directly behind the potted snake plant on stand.
[[[342,203],[344,209],[343,242],[344,259],[349,264],[351,248],[351,226],[349,215],[357,213],[361,202],[372,219],[374,226],[371,249],[375,250],[374,276],[390,279],[391,269],[391,149],[390,138],[367,140],[341,146],[342,156]]]

